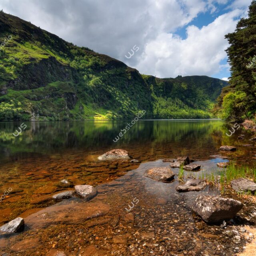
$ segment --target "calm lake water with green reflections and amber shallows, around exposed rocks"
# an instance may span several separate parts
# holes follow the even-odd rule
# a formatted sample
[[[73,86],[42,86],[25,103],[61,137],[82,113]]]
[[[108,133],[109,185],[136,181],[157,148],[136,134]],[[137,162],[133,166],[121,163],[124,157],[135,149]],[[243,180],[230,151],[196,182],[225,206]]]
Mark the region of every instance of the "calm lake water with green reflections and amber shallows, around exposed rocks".
[[[18,129],[21,122],[0,123],[0,192],[12,189],[0,202],[0,224],[17,216],[25,218],[24,232],[0,236],[0,252],[2,248],[18,255],[22,248],[23,255],[45,255],[56,247],[68,255],[84,251],[90,255],[94,250],[97,255],[234,255],[233,233],[223,234],[220,226],[207,225],[191,210],[198,193],[219,195],[218,187],[178,193],[177,175],[174,182],[162,183],[144,177],[144,172],[169,166],[162,159],[179,156],[189,156],[202,166],[199,172],[185,172],[192,176],[223,172],[216,163],[224,161],[210,157],[216,154],[254,166],[255,147],[243,146],[253,143],[249,142],[252,133],[239,128],[227,136],[230,126],[221,120],[141,120],[114,142],[127,123],[130,121],[24,122],[26,128],[23,125],[22,129]],[[21,130],[18,136],[13,135],[18,134],[16,130]],[[242,141],[238,140],[241,133],[245,134]],[[222,145],[238,150],[220,152]],[[97,159],[114,148],[127,150],[139,162]],[[173,171],[178,174],[179,169]],[[92,185],[98,194],[90,202],[78,197],[56,202],[52,195],[68,190],[58,186],[63,179],[73,185]],[[232,198],[238,196],[232,194]],[[127,210],[132,201],[134,207]],[[74,212],[63,212],[63,206],[71,206]],[[85,208],[88,218],[82,216]],[[102,212],[95,212],[96,208]],[[240,217],[248,216],[250,210],[245,208]],[[40,221],[46,215],[47,220]],[[234,226],[227,228],[232,229]],[[26,247],[31,243],[36,246]],[[239,246],[244,243],[241,240]],[[88,246],[95,247],[85,249]]]

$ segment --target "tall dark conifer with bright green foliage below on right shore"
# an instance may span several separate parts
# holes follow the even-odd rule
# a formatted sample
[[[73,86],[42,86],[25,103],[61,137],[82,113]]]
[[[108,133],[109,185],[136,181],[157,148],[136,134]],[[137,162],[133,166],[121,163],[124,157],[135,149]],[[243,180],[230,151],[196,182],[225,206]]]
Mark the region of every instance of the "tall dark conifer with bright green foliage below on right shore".
[[[255,118],[256,113],[256,1],[252,1],[248,18],[242,18],[226,38],[231,65],[230,86],[218,98],[214,113],[228,122]]]

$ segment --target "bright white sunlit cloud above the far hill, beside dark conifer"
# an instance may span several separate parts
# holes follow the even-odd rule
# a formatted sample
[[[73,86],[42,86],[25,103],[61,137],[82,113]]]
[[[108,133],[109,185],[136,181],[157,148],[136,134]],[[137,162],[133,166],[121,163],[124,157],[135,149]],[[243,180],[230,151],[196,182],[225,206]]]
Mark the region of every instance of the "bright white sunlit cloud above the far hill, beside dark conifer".
[[[218,73],[227,66],[220,64],[226,58],[228,47],[224,36],[234,31],[240,14],[239,10],[223,14],[201,29],[188,26],[184,40],[175,34],[159,34],[156,40],[147,44],[136,68],[158,77]]]

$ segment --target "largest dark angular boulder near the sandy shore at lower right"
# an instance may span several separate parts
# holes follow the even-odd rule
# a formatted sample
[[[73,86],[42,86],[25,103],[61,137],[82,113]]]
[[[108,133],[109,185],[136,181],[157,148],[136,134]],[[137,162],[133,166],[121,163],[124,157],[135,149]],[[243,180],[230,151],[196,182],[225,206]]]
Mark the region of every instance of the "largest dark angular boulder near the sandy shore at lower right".
[[[214,223],[232,219],[242,207],[240,201],[232,198],[202,195],[196,198],[192,210],[204,221]]]

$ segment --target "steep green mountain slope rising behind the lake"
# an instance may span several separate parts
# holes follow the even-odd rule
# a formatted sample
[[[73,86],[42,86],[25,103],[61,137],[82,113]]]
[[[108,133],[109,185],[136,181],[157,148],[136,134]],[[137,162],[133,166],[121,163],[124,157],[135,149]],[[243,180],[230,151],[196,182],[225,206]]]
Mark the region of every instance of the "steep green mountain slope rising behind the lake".
[[[209,118],[228,83],[160,79],[0,12],[0,120]]]

